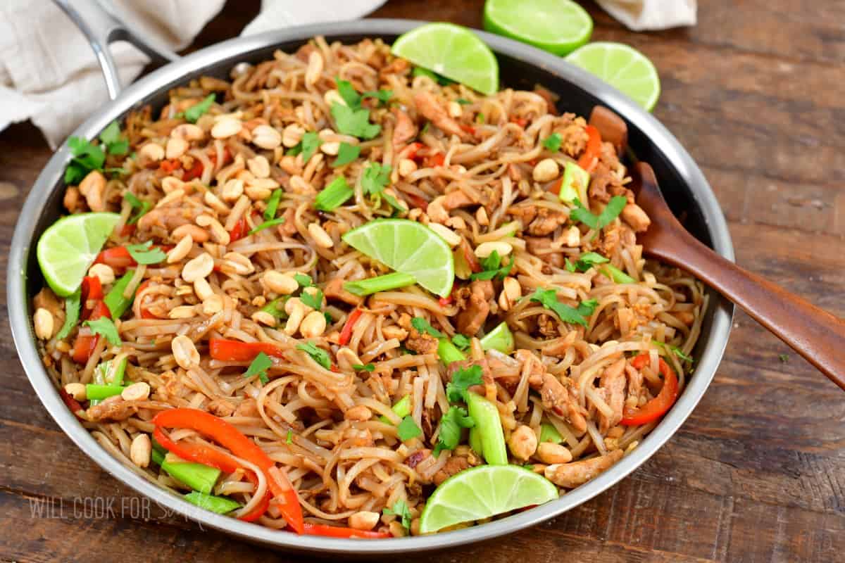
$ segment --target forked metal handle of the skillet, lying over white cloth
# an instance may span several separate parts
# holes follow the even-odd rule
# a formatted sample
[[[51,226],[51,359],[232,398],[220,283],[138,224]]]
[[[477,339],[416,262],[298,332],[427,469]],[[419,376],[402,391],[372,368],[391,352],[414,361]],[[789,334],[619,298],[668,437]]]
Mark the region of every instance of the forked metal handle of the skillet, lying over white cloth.
[[[117,98],[122,88],[120,76],[117,74],[117,65],[112,57],[112,51],[108,48],[113,41],[128,41],[154,62],[171,62],[179,58],[166,46],[145,39],[128,28],[117,18],[113,8],[101,0],[53,0],[53,3],[62,8],[62,11],[68,14],[79,30],[85,34],[97,57],[97,62],[100,63],[103,78],[106,79],[108,96],[112,100]]]

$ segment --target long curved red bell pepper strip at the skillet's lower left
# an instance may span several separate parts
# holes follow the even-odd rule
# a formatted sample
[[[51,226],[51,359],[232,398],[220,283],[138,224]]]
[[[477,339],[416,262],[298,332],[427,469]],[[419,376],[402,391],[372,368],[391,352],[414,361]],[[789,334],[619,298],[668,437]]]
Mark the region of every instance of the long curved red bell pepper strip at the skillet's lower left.
[[[297,491],[293,489],[284,471],[278,472],[281,479],[274,479],[270,475],[270,468],[275,468],[275,462],[240,430],[226,420],[199,409],[164,410],[155,415],[153,424],[156,427],[196,430],[228,449],[233,455],[257,465],[264,472],[281,515],[297,533],[303,533],[303,509],[299,505]]]

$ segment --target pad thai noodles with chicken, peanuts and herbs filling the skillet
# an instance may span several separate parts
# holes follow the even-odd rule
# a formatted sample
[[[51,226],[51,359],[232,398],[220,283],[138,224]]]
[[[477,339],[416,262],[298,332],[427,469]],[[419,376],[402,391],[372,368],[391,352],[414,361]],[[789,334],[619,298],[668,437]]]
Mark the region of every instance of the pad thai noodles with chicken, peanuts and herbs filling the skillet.
[[[430,533],[482,466],[565,494],[671,408],[707,297],[641,255],[624,122],[559,107],[316,37],[72,138],[64,208],[108,228],[35,295],[46,369],[114,457],[268,528]]]

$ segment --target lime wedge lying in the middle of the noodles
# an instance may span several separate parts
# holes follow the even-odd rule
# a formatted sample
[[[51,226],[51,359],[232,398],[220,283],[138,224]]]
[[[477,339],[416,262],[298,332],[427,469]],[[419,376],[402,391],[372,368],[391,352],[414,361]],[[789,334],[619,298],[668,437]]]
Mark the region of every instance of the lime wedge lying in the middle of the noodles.
[[[445,297],[455,281],[452,251],[440,235],[408,219],[376,219],[343,235],[346,244]]]

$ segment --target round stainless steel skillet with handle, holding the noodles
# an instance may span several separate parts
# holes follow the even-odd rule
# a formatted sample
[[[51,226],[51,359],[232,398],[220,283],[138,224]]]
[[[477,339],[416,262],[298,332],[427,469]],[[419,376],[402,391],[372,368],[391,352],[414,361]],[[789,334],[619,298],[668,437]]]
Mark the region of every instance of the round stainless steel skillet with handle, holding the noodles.
[[[202,74],[226,77],[238,62],[258,62],[272,57],[276,49],[294,50],[313,35],[325,35],[329,41],[358,41],[364,37],[381,37],[390,42],[397,35],[423,23],[397,19],[365,19],[309,25],[225,41],[187,57],[178,58],[172,53],[158,50],[148,41],[140,41],[137,35],[123,27],[94,0],[57,0],[57,3],[63,4],[63,8],[68,14],[72,14],[74,21],[85,29],[101,62],[106,84],[109,85],[113,98],[110,104],[97,111],[74,132],[74,135],[85,138],[94,138],[106,125],[115,119],[122,119],[133,108],[147,104],[161,107],[166,102],[168,89],[185,84],[191,78]],[[543,84],[561,96],[559,106],[567,111],[587,115],[593,106],[600,103],[623,116],[630,131],[630,148],[638,159],[645,160],[654,168],[675,214],[685,216],[684,225],[701,241],[723,257],[733,259],[733,246],[728,228],[711,188],[690,154],[653,116],[642,111],[617,90],[581,69],[570,66],[559,57],[496,35],[482,32],[478,35],[496,52],[504,86],[531,89],[534,84]],[[107,43],[118,39],[131,41],[150,56],[172,62],[121,92],[117,73],[107,51]],[[56,387],[41,365],[41,358],[35,346],[30,311],[31,297],[43,284],[35,260],[35,243],[41,232],[62,214],[62,178],[69,158],[67,148],[59,149],[35,181],[20,213],[8,258],[9,322],[32,387],[57,424],[101,468],[139,494],[149,496],[173,512],[184,514],[204,526],[231,533],[248,541],[320,554],[385,555],[455,547],[492,539],[547,520],[608,489],[651,457],[695,408],[710,384],[728,342],[733,306],[713,294],[710,310],[706,312],[703,333],[694,351],[697,360],[695,375],[691,377],[678,403],[660,425],[642,441],[640,447],[597,479],[563,495],[558,501],[537,506],[532,510],[455,532],[384,540],[297,536],[218,516],[201,511],[169,491],[150,483],[100,447],[65,407]]]

